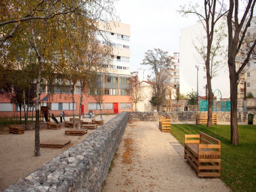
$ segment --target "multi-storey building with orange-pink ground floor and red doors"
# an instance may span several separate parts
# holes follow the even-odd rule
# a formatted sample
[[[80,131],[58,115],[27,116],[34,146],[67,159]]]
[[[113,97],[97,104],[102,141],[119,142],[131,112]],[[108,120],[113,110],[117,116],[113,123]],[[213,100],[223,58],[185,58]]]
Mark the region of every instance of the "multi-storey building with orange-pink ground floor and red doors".
[[[102,111],[106,114],[118,114],[122,111],[132,111],[132,102],[129,92],[130,78],[130,25],[114,21],[101,22],[100,32],[96,33],[98,42],[104,45],[106,40],[111,42],[113,47],[113,66],[106,66],[108,73],[102,73],[99,85],[104,90],[104,102]],[[101,34],[104,34],[104,38]],[[55,116],[59,116],[60,110],[65,111],[69,116],[73,113],[71,88],[53,87],[54,94],[50,97],[50,110]],[[42,86],[40,95],[41,100],[49,93],[47,86]],[[88,88],[81,90],[79,83],[75,90],[75,114],[78,115],[80,94],[83,91],[83,103],[81,114],[92,110],[99,114],[100,106],[95,99],[90,96]],[[46,102],[44,103],[46,105]],[[23,111],[23,109],[22,109]],[[32,111],[32,109],[31,109]],[[32,112],[30,112],[31,115]],[[10,104],[6,98],[0,98],[0,117],[19,116],[19,107]],[[23,112],[22,112],[23,116]]]

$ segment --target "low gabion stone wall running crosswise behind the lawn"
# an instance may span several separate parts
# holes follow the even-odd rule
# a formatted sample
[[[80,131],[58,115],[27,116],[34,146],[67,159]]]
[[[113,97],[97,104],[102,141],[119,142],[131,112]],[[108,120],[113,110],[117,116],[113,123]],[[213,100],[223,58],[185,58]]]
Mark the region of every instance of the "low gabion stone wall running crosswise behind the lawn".
[[[200,111],[199,113],[207,114],[207,112]],[[218,114],[218,121],[230,122],[230,112],[216,111]],[[256,112],[238,112],[237,121],[247,122],[248,114],[254,114],[254,121],[256,121]],[[129,119],[133,121],[158,121],[160,116],[168,116],[171,121],[196,121],[196,111],[180,111],[180,112],[130,112]]]

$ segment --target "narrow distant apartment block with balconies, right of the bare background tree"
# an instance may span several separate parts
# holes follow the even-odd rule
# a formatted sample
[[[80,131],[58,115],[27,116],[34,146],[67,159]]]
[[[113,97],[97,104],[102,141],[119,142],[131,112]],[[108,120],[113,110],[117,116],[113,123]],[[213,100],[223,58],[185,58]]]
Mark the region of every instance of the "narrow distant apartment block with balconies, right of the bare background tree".
[[[180,86],[180,53],[174,52],[173,55],[173,71],[172,71],[172,79],[171,79],[171,85],[174,88],[177,88]]]

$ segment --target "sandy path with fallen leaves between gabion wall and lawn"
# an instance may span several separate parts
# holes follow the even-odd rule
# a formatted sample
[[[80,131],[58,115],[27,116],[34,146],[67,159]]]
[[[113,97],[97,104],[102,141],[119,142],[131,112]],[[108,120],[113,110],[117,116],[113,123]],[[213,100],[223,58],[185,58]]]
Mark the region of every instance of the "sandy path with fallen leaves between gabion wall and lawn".
[[[125,164],[132,139],[132,163]],[[230,192],[219,178],[198,178],[184,159],[184,148],[158,122],[128,123],[102,192]]]

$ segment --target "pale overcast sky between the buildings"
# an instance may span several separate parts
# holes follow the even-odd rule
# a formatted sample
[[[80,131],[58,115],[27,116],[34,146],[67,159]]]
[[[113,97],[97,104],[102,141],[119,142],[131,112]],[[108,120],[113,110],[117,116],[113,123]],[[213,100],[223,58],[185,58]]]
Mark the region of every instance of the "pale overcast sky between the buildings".
[[[131,29],[131,72],[137,68],[148,69],[140,65],[147,50],[160,48],[169,55],[179,52],[180,30],[196,24],[199,19],[192,14],[182,17],[176,10],[191,1],[199,0],[120,0],[116,3],[119,19]]]

